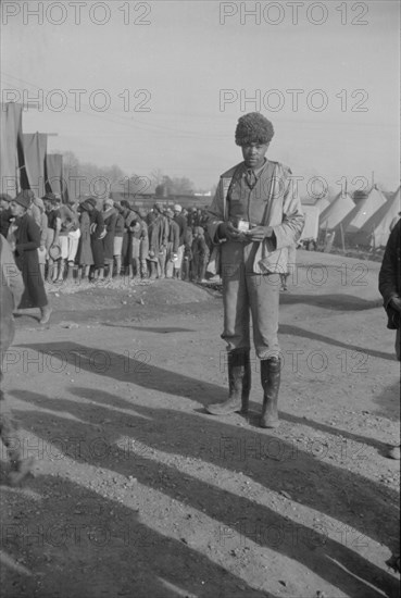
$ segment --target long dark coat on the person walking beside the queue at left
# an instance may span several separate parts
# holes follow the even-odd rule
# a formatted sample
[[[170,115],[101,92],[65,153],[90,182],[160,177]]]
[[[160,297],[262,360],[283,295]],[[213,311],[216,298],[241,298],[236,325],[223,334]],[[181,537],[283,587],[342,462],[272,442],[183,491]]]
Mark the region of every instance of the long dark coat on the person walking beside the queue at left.
[[[48,304],[39,269],[40,228],[28,214],[17,220],[15,231],[15,263],[22,272],[25,290],[20,309],[43,308]]]

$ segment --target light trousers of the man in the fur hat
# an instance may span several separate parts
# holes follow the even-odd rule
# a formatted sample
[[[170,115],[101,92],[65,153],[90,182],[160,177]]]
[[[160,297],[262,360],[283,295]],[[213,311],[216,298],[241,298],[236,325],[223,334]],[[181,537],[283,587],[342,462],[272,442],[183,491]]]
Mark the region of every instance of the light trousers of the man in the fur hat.
[[[279,357],[278,274],[247,273],[245,264],[223,267],[224,332],[227,350],[250,349],[250,316],[259,359]]]

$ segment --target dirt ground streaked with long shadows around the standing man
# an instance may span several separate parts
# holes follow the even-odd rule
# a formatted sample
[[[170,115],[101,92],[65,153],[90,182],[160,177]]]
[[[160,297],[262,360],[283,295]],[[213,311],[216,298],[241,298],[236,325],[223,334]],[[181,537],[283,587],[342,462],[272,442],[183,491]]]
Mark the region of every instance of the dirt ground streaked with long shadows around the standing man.
[[[36,462],[22,488],[2,474],[2,597],[398,595],[385,451],[400,374],[379,263],[298,260],[276,431],[258,427],[255,359],[249,418],[204,411],[227,396],[216,286],[61,287],[49,325],[16,319],[5,389]]]

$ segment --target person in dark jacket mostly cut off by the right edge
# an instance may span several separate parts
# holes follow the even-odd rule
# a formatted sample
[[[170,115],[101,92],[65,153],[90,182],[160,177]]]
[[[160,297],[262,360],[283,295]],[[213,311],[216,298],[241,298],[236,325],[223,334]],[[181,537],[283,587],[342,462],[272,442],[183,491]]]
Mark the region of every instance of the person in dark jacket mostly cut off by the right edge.
[[[396,358],[401,361],[401,221],[399,220],[387,241],[379,271],[378,288],[387,313],[387,327],[396,331]],[[400,459],[400,445],[388,451],[391,459]]]

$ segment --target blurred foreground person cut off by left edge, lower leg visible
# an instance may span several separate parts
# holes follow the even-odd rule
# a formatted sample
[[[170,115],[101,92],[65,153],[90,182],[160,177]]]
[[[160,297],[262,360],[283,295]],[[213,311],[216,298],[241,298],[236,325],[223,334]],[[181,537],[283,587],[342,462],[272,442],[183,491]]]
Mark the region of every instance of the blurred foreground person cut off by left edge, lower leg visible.
[[[24,283],[16,267],[12,249],[5,238],[0,235],[0,437],[7,448],[10,461],[8,482],[10,486],[21,484],[28,475],[33,458],[24,459],[18,426],[13,418],[9,401],[3,390],[3,361],[15,336],[13,311],[20,304],[24,292]]]

